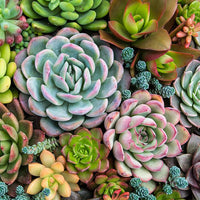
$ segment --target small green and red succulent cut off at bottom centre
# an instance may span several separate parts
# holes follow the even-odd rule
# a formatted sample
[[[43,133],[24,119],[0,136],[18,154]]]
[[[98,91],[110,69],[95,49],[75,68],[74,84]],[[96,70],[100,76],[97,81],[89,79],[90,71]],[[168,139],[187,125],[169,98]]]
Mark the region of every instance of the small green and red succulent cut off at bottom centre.
[[[121,200],[121,195],[123,198],[129,196],[129,180],[130,178],[118,176],[116,169],[109,169],[105,173],[96,174],[87,186],[94,190],[94,197],[102,197],[104,200],[115,200],[115,198]]]

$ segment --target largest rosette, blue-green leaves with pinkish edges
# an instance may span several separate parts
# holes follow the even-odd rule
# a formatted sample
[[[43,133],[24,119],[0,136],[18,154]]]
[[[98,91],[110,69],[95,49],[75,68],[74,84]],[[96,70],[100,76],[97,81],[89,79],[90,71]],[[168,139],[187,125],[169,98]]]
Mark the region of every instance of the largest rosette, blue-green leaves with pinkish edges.
[[[98,36],[64,28],[51,39],[32,39],[27,51],[17,55],[14,82],[22,92],[20,102],[28,113],[42,117],[48,135],[96,127],[119,106],[124,70],[102,44]]]

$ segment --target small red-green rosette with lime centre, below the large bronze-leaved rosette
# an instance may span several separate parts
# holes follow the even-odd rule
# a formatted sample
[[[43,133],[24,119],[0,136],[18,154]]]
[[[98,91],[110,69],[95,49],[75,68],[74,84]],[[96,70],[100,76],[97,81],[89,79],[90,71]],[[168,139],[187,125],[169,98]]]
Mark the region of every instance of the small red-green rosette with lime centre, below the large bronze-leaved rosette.
[[[177,78],[177,68],[186,66],[193,55],[178,51],[168,51],[155,60],[143,55],[147,63],[147,69],[160,81],[171,82]]]

